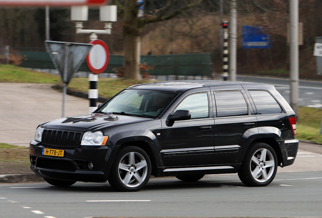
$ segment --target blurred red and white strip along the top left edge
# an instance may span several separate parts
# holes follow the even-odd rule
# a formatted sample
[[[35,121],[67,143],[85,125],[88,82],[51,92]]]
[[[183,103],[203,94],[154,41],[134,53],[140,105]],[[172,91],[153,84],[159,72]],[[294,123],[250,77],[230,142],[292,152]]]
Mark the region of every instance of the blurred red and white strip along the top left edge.
[[[0,0],[1,6],[103,5],[107,0]]]

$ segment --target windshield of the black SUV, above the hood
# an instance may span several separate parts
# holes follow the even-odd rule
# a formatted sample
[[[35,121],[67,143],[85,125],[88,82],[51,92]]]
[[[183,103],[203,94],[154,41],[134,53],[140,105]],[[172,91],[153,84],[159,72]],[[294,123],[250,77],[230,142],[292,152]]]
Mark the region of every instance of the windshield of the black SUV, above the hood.
[[[154,90],[124,90],[103,105],[98,113],[156,118],[176,96]]]

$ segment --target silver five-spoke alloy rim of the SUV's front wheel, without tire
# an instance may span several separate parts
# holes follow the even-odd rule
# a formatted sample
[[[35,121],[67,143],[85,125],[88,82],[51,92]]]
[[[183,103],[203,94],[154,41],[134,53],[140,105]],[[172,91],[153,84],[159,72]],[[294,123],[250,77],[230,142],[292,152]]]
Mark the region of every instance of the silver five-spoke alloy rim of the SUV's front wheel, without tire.
[[[148,165],[138,152],[125,154],[118,163],[118,177],[127,187],[138,187],[147,177]]]

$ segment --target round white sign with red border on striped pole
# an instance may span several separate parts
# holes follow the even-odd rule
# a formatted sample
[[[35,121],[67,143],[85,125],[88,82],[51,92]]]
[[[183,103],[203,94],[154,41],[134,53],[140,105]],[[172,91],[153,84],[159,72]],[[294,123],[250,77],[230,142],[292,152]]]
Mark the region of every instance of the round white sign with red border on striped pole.
[[[100,74],[107,68],[109,50],[106,43],[100,39],[93,40],[90,43],[94,45],[86,58],[87,66],[91,72]]]

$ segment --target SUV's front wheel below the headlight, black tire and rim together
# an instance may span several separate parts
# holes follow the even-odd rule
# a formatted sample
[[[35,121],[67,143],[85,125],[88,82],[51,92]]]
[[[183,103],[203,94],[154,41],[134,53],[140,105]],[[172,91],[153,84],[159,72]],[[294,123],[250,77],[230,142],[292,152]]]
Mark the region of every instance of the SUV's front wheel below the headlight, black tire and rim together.
[[[118,191],[139,191],[150,175],[151,161],[146,152],[139,147],[125,146],[115,156],[108,182]]]

